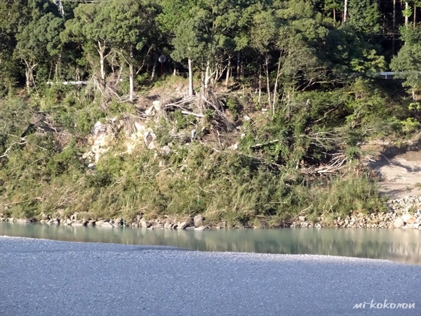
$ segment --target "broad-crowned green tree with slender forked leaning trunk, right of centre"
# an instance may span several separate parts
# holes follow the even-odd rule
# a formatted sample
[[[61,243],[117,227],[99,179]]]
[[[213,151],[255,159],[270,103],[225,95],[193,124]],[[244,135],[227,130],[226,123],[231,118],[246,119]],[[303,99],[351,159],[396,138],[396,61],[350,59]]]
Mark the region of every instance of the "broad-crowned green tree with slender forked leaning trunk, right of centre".
[[[279,1],[272,8],[255,13],[250,46],[262,56],[272,114],[281,86],[284,93],[299,86],[304,89],[323,77],[326,65],[316,49],[321,47],[327,33],[321,25],[321,15],[306,1]]]

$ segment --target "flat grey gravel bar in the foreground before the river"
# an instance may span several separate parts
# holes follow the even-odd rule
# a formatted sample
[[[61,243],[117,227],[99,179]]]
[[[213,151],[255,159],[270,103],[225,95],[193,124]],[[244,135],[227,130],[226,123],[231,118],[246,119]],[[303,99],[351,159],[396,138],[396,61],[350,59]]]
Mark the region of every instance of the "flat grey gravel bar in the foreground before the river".
[[[420,285],[390,261],[0,237],[0,315],[421,315]]]

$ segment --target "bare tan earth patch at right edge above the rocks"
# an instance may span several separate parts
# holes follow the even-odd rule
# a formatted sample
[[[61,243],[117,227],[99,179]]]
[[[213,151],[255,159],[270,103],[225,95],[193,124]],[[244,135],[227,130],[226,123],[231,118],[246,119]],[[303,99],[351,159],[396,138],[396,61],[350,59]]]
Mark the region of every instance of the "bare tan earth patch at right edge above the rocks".
[[[421,196],[421,150],[389,147],[377,152],[373,160],[369,166],[381,178],[382,194],[390,199]]]

